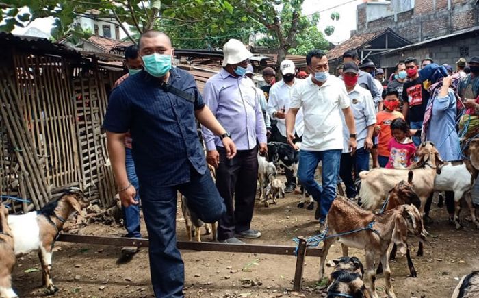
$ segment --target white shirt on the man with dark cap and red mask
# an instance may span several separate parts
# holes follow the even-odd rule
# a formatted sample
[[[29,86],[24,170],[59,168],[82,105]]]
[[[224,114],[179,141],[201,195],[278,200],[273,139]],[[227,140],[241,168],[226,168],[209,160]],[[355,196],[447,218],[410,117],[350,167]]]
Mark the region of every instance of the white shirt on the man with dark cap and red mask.
[[[367,127],[376,124],[376,108],[372,100],[371,92],[358,84],[348,93],[351,100],[351,110],[354,114],[354,124],[356,125],[357,149],[364,147],[364,141],[367,137]],[[349,129],[346,127],[344,114],[341,113],[343,121],[343,153],[349,152]]]

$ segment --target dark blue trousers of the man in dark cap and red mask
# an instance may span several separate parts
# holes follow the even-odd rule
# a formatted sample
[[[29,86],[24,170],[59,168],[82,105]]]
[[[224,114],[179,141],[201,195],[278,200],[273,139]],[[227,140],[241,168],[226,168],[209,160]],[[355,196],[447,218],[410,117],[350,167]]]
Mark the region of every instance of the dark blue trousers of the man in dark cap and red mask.
[[[357,149],[354,156],[350,153],[341,154],[341,165],[339,166],[339,177],[346,186],[346,197],[354,198],[357,195],[356,186],[354,186],[354,180],[352,179],[352,171],[354,170],[354,177],[358,179],[359,172],[367,171],[370,169],[370,152],[364,149],[364,147]]]

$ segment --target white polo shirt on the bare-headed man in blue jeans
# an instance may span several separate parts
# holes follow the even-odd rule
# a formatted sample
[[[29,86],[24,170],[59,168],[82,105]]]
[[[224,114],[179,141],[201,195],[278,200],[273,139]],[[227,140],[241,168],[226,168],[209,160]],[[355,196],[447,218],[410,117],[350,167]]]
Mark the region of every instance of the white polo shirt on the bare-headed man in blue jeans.
[[[292,90],[290,108],[302,108],[305,133],[301,149],[325,151],[343,149],[343,124],[341,109],[350,106],[344,82],[330,75],[320,87],[311,76],[302,80]]]

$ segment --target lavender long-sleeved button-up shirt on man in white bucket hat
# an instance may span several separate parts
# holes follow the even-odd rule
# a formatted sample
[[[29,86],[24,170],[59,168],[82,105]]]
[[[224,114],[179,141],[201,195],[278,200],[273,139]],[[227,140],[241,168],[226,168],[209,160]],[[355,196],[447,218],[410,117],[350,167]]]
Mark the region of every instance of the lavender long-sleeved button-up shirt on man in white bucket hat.
[[[257,140],[266,143],[266,125],[253,81],[234,77],[224,69],[206,82],[203,101],[228,132],[238,150],[253,149]],[[206,149],[223,147],[218,136],[202,127]]]

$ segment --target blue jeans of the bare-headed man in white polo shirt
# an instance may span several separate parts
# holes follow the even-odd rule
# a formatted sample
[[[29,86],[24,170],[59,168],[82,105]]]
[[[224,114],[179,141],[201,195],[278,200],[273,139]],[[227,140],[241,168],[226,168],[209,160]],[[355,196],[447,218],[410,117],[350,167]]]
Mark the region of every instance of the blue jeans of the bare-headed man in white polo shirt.
[[[301,185],[320,204],[320,222],[326,221],[329,208],[336,197],[337,176],[341,150],[308,151],[300,150],[298,178]],[[314,179],[318,164],[322,162],[322,185]]]

